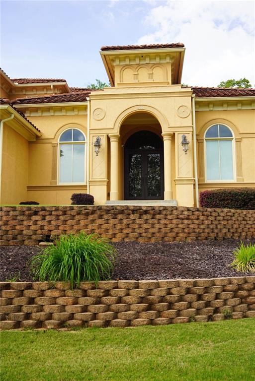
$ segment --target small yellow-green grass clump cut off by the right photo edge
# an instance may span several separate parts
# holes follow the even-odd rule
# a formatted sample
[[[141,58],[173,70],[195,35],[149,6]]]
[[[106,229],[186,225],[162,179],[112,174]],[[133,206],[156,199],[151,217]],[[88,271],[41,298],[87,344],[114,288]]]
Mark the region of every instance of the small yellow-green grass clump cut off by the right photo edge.
[[[231,266],[240,272],[255,272],[255,245],[245,246],[243,242],[238,249],[233,253],[235,259],[231,263]]]

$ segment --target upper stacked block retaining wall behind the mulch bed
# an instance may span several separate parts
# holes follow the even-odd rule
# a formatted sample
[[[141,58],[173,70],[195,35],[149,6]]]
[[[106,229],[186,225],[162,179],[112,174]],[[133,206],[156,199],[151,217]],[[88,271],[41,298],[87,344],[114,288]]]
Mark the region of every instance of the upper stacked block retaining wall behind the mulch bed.
[[[193,241],[255,237],[255,210],[172,206],[0,208],[1,245],[38,245],[50,236],[98,233],[112,241]]]

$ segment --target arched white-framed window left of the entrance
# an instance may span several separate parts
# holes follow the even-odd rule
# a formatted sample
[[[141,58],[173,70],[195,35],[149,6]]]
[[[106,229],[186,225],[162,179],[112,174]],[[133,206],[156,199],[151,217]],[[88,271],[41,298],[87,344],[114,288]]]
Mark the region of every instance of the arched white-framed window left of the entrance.
[[[85,135],[66,129],[59,138],[59,183],[85,183]]]

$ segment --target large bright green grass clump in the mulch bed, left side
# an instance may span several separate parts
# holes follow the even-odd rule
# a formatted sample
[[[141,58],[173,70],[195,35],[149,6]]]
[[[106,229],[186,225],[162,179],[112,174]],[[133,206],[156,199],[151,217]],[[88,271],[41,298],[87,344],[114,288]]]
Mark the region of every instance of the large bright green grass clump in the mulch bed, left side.
[[[71,281],[72,288],[80,281],[96,284],[109,279],[114,269],[116,250],[96,234],[63,235],[52,245],[32,257],[30,265],[40,281]]]

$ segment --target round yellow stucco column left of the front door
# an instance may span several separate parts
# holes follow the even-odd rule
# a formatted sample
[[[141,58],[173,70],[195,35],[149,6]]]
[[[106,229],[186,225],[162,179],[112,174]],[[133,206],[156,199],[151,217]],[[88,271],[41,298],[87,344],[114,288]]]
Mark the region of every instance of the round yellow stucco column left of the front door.
[[[110,200],[118,200],[118,134],[109,134],[111,144],[111,177],[110,177]]]

